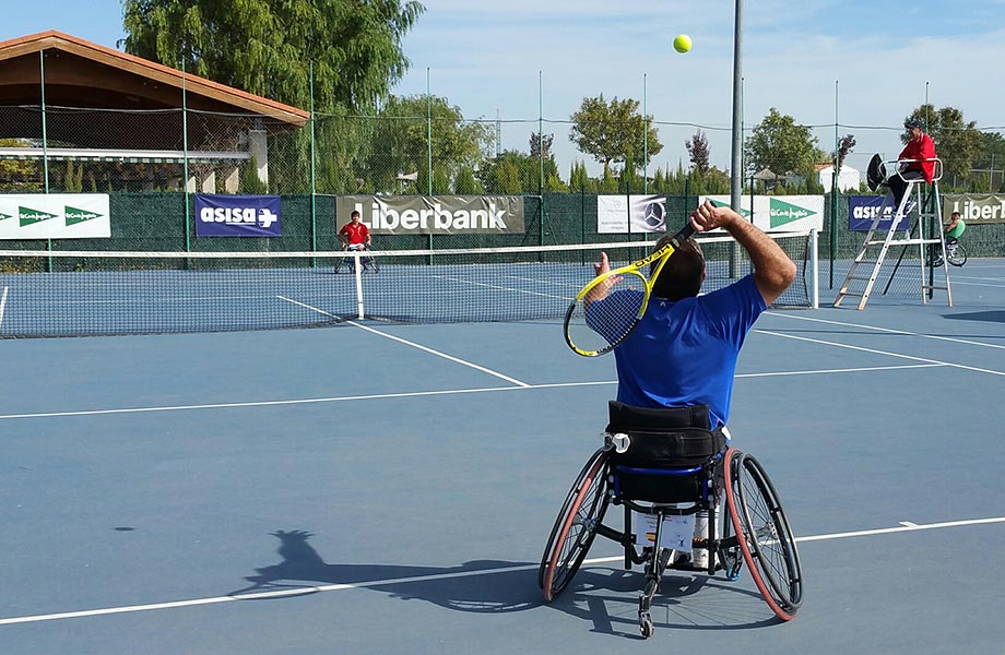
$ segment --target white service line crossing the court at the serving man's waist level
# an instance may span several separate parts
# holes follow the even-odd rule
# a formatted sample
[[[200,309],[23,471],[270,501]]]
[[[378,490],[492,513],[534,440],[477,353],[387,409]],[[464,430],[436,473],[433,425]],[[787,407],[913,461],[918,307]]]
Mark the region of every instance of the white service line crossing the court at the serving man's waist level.
[[[779,376],[812,376],[832,373],[858,373],[863,371],[890,371],[918,368],[932,368],[936,364],[906,364],[899,366],[868,366],[847,369],[820,369],[805,371],[772,371],[765,373],[740,373],[736,378],[775,378]],[[381,398],[407,398],[418,396],[454,395],[465,393],[493,393],[497,391],[530,391],[535,389],[565,389],[574,386],[600,386],[617,384],[616,380],[601,380],[595,382],[549,382],[545,384],[527,384],[523,386],[486,386],[482,389],[446,389],[440,391],[403,391],[398,393],[374,393],[354,396],[330,396],[322,398],[292,398],[286,401],[248,401],[243,403],[206,403],[204,405],[165,405],[154,407],[121,407],[113,409],[79,409],[68,412],[39,412],[36,414],[0,414],[0,420],[5,418],[52,418],[60,416],[97,416],[104,414],[143,414],[147,412],[187,412],[194,409],[227,409],[234,407],[270,407],[279,405],[308,405],[312,403],[344,403],[351,401],[373,401]]]

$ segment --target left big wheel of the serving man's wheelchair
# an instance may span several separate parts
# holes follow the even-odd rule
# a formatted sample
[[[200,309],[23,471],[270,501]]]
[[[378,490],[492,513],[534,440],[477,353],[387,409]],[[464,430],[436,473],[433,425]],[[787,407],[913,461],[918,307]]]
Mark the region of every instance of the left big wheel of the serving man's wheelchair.
[[[568,586],[590,550],[607,510],[607,452],[593,453],[569,489],[537,569],[537,584],[551,603]]]

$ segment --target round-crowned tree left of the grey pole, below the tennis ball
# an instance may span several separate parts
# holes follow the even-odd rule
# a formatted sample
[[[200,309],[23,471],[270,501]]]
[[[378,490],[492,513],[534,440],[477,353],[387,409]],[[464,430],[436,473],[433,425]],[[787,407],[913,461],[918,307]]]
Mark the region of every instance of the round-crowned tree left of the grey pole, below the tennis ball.
[[[579,110],[572,114],[569,140],[580,150],[608,169],[612,164],[625,163],[629,153],[648,151],[650,157],[663,150],[652,117],[638,112],[639,102],[615,97],[611,103],[603,94],[583,98]]]

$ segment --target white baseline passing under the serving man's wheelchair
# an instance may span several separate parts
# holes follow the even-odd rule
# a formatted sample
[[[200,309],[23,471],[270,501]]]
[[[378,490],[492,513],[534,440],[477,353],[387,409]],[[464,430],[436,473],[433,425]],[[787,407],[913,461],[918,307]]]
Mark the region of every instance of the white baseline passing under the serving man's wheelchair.
[[[902,522],[906,523],[906,522]],[[988,525],[993,523],[1005,523],[1005,516],[993,519],[972,519],[967,521],[949,521],[945,523],[930,523],[926,525],[901,524],[899,527],[883,527],[877,529],[861,529],[855,532],[833,533],[828,535],[814,535],[807,537],[796,537],[796,543],[808,541],[829,541],[833,539],[846,539],[849,537],[868,537],[875,535],[888,535],[905,532],[918,532],[924,529],[944,529],[948,527],[963,527],[970,525]],[[617,562],[625,559],[624,555],[616,557],[601,557],[583,560],[583,564],[602,564],[606,562]],[[368,587],[380,587],[392,584],[411,584],[416,582],[430,582],[436,580],[450,580],[454,577],[475,577],[480,575],[494,575],[497,573],[513,573],[518,571],[534,571],[539,564],[521,564],[518,567],[505,567],[500,569],[478,569],[474,571],[454,571],[451,573],[434,573],[430,575],[413,575],[410,577],[390,577],[385,580],[370,580],[366,582],[353,582],[344,584],[321,584],[316,586],[303,586],[293,590],[277,590],[272,592],[258,592],[252,594],[240,594],[235,596],[213,596],[209,598],[191,598],[188,600],[173,600],[168,603],[151,603],[147,605],[127,605],[122,607],[104,607],[100,609],[85,609],[80,611],[63,611],[47,615],[32,615],[24,617],[10,617],[0,619],[0,626],[13,626],[16,623],[37,623],[42,621],[56,621],[59,619],[80,619],[86,617],[97,617],[107,615],[128,614],[134,611],[152,611],[155,609],[175,609],[179,607],[193,607],[199,605],[215,605],[218,603],[233,603],[235,600],[263,600],[268,598],[283,598],[288,596],[303,596],[305,594],[317,594],[322,592],[342,592],[347,590],[362,590]]]

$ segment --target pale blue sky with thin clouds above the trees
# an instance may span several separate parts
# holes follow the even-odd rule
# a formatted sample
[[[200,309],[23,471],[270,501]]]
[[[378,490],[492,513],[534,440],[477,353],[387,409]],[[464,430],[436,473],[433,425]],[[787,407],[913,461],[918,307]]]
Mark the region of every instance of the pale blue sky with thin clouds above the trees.
[[[16,2],[0,39],[59,29],[116,47],[120,0]],[[568,140],[583,97],[645,102],[663,152],[651,167],[687,163],[701,127],[712,163],[728,167],[732,116],[733,0],[426,0],[405,38],[412,70],[397,92],[429,91],[466,118],[500,118],[501,145],[525,151],[537,130],[555,134],[564,175],[572,159],[596,165]],[[694,39],[687,55],[671,41]],[[758,0],[744,3],[744,123],[777,107],[832,150],[858,140],[852,166],[899,152],[898,126],[926,99],[978,127],[1005,126],[1005,0]],[[428,73],[427,73],[428,69]],[[836,84],[837,82],[837,84]],[[1003,128],[1005,129],[1005,128]]]

